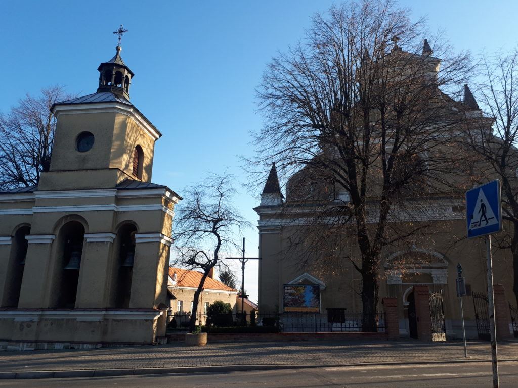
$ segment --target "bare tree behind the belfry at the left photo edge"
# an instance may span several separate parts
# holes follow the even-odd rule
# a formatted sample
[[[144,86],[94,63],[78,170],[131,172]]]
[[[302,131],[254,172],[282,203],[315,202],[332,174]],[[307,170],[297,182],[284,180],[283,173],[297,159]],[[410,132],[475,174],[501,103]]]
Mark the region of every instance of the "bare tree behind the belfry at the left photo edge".
[[[63,86],[50,86],[0,113],[0,189],[37,185],[49,170],[56,125],[50,108],[69,98]]]

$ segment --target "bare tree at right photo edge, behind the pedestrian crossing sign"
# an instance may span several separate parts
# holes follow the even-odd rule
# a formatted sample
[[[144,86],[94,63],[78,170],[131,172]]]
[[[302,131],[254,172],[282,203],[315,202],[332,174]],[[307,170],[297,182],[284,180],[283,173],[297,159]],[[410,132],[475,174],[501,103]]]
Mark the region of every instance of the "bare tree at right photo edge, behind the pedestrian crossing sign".
[[[471,149],[482,157],[479,181],[498,178],[501,182],[502,217],[512,230],[496,236],[499,248],[512,252],[514,285],[518,301],[518,49],[482,58],[477,100],[485,115],[471,114],[469,125]],[[467,88],[467,86],[466,86]],[[467,89],[472,111],[479,108]]]

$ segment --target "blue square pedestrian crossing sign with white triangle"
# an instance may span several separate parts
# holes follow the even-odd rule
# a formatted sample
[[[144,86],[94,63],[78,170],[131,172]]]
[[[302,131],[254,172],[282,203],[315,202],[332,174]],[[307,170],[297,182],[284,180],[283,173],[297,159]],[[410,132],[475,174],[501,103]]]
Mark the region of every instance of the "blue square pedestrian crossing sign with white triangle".
[[[466,219],[468,238],[502,230],[499,180],[466,191]]]

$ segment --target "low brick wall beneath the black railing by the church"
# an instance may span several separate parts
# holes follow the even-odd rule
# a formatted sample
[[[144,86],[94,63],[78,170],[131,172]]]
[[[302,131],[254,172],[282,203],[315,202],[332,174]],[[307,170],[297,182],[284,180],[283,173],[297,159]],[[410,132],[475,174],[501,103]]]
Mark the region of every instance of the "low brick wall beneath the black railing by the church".
[[[168,342],[183,342],[185,334],[168,334]],[[246,333],[207,335],[207,342],[285,342],[285,341],[348,341],[351,339],[386,340],[386,333]]]

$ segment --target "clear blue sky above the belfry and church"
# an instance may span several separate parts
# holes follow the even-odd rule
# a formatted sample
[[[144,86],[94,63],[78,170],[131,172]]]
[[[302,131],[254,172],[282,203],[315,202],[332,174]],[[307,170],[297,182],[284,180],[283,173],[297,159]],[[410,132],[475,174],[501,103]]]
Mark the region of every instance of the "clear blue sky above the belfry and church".
[[[156,143],[153,182],[180,195],[207,171],[225,168],[244,182],[237,155],[251,155],[250,131],[262,125],[254,90],[272,56],[304,35],[328,0],[23,1],[0,2],[0,111],[25,93],[53,84],[70,93],[97,88],[97,66],[115,52],[135,73],[131,101],[163,133]],[[515,1],[402,1],[415,18],[428,16],[456,50],[514,48]],[[241,186],[240,186],[241,187]],[[257,193],[239,188],[237,206],[256,223]],[[246,235],[257,256],[258,235]],[[240,279],[238,266],[236,274]],[[257,264],[247,264],[245,288],[257,298]]]

